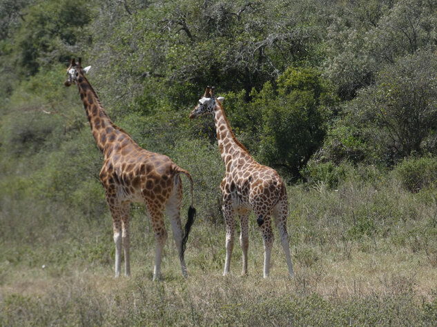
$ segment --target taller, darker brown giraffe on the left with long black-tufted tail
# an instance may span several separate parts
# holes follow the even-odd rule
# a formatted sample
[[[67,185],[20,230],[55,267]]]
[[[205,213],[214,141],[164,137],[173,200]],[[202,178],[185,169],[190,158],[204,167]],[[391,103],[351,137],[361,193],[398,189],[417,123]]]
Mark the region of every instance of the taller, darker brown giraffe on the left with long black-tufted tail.
[[[119,277],[124,248],[125,274],[130,275],[129,216],[130,202],[143,202],[150,216],[155,234],[155,267],[153,280],[161,275],[162,250],[167,239],[164,224],[164,210],[173,229],[173,237],[179,252],[182,275],[187,276],[184,250],[188,234],[195,218],[193,208],[193,180],[184,169],[179,168],[165,155],[149,152],[139,147],[122,128],[110,121],[97,93],[85,77],[90,66],[81,67],[81,59],[71,59],[67,68],[65,86],[77,84],[84,103],[91,132],[98,148],[104,155],[104,164],[99,177],[106,191],[106,201],[113,217],[113,238],[115,243],[115,277]],[[180,207],[182,181],[180,174],[191,183],[191,206],[188,219],[182,230]]]

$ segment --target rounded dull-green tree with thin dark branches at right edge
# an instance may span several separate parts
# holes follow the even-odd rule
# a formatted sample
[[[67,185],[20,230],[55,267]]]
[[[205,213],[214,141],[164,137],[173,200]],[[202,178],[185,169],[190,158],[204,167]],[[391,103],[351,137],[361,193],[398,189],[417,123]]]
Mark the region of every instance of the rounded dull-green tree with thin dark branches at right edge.
[[[362,90],[348,108],[379,160],[394,163],[411,153],[435,152],[437,59],[420,50],[387,66],[376,85]]]

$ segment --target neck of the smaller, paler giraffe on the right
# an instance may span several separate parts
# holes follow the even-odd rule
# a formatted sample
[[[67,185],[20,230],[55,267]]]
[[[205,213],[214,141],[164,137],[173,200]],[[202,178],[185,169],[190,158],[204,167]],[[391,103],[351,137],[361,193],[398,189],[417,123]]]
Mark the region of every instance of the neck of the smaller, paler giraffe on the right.
[[[229,126],[228,119],[226,119],[226,115],[224,115],[224,110],[220,102],[217,102],[215,105],[214,121],[220,155],[222,155],[226,167],[234,157],[237,157],[237,154],[251,157],[242,143],[235,138],[231,126]]]

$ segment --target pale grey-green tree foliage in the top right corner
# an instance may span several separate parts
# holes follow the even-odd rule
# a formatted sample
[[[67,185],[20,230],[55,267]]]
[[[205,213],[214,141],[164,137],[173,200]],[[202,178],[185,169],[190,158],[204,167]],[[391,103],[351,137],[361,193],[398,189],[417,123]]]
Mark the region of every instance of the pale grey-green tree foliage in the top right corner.
[[[369,0],[334,8],[326,72],[342,99],[372,85],[387,64],[434,45],[436,17],[427,1]]]

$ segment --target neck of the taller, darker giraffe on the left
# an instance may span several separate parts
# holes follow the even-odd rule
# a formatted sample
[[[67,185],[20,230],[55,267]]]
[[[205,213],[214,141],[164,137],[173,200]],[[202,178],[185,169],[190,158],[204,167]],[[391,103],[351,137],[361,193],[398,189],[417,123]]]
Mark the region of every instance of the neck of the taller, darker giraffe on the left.
[[[101,152],[105,153],[110,141],[113,141],[120,132],[127,136],[128,134],[110,121],[103,106],[101,106],[99,97],[97,97],[97,93],[93,86],[91,86],[90,82],[88,82],[88,79],[86,79],[83,74],[80,74],[79,77],[77,77],[77,86],[79,88],[82,102],[84,103],[86,116],[90,122],[93,137]]]

